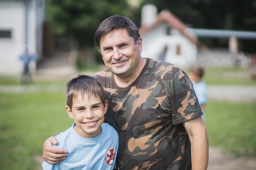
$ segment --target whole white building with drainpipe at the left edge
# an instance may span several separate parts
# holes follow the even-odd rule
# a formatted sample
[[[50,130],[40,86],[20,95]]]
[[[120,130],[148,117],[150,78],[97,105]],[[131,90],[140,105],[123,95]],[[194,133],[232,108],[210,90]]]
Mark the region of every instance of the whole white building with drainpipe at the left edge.
[[[26,46],[41,58],[44,13],[45,0],[0,0],[0,75],[21,74]]]

